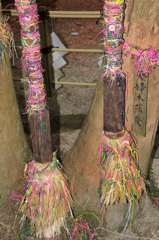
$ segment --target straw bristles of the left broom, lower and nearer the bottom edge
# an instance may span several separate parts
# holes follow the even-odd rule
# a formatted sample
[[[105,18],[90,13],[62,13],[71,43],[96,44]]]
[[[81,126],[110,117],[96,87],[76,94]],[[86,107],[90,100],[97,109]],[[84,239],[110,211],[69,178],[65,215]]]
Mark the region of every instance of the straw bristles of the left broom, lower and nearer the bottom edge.
[[[72,215],[72,198],[56,157],[50,163],[30,162],[24,175],[27,191],[20,206],[23,219],[31,220],[31,229],[35,227],[37,237],[58,236],[68,211]]]

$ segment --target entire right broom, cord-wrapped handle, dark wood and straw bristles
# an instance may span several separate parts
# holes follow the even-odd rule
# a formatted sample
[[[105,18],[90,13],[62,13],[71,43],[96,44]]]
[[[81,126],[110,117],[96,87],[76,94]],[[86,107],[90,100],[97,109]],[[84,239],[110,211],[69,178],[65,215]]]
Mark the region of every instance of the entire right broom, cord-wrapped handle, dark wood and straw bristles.
[[[104,0],[104,131],[100,146],[100,199],[103,212],[109,204],[118,201],[138,203],[142,192],[146,191],[138,169],[136,143],[125,130],[123,121],[126,82],[126,74],[122,70],[124,9],[124,0]],[[112,96],[111,102],[107,95]],[[109,103],[116,106],[109,107]],[[118,111],[118,116],[115,111]]]

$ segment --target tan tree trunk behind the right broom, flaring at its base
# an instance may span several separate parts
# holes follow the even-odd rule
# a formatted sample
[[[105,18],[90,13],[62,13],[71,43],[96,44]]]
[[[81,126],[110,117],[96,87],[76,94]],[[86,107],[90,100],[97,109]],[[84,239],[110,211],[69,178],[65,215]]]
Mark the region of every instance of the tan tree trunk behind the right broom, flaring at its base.
[[[137,11],[142,4],[140,11]],[[147,7],[147,5],[150,6]],[[143,7],[146,11],[143,14]],[[159,42],[159,28],[157,27],[157,9],[159,8],[159,1],[140,0],[134,1],[133,13],[131,15],[131,25],[128,35],[130,44],[148,48],[150,45],[158,49]],[[127,9],[129,9],[129,1],[127,2]],[[154,14],[152,14],[152,12]],[[147,19],[149,17],[149,19]],[[127,19],[127,18],[126,18]],[[154,32],[150,33],[151,27],[154,25]],[[140,38],[137,35],[138,27],[142,27],[146,32],[146,36]],[[139,36],[143,36],[142,34]],[[131,131],[132,126],[132,98],[133,98],[133,74],[134,63],[130,56],[123,55],[122,69],[127,72],[127,99],[126,99],[126,128]],[[148,108],[147,108],[147,127],[146,137],[135,136],[137,140],[137,150],[139,154],[139,169],[146,177],[153,147],[153,139],[155,138],[157,124],[158,124],[158,109],[159,109],[159,69],[154,70],[153,74],[149,76],[148,86]],[[157,84],[158,83],[158,84]],[[99,166],[99,146],[101,141],[101,132],[103,130],[103,84],[101,77],[99,78],[96,87],[95,96],[89,111],[88,117],[82,127],[78,138],[66,158],[63,160],[64,169],[67,172],[75,205],[75,214],[78,216],[83,212],[92,212],[99,214],[99,181],[101,168]],[[143,198],[144,199],[144,198]],[[146,211],[146,204],[145,204]],[[121,231],[121,223],[124,212],[128,212],[129,205],[124,206],[115,204],[106,210],[105,219],[106,228],[114,231]],[[133,217],[135,215],[133,214]],[[91,218],[92,220],[93,218]],[[102,218],[101,218],[102,219]],[[123,221],[125,227],[127,221]],[[135,223],[135,221],[133,221]],[[138,224],[138,221],[136,222]],[[95,225],[96,227],[96,225]],[[148,233],[149,228],[147,228]]]

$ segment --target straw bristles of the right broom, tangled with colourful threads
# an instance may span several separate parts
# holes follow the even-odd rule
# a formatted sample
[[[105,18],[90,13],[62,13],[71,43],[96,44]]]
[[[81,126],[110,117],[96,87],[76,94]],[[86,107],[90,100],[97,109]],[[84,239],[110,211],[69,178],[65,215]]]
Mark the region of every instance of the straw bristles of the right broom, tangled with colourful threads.
[[[127,200],[137,203],[146,188],[138,170],[135,142],[130,133],[125,131],[118,138],[102,136],[100,164],[102,209],[119,200],[120,203],[126,203]]]

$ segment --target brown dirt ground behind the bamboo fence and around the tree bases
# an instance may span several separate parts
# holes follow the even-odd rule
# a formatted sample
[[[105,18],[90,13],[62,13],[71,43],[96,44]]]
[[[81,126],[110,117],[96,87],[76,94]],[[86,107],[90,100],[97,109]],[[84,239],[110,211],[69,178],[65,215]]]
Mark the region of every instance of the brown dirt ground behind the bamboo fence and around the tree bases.
[[[38,6],[46,6],[48,10],[79,10],[79,11],[100,11],[102,8],[102,1],[98,0],[39,0]],[[13,8],[13,7],[11,7]],[[51,43],[51,32],[54,30],[60,40],[67,48],[94,48],[101,49],[101,38],[98,36],[93,42],[87,44],[92,40],[100,31],[100,27],[96,26],[97,19],[48,19],[49,25],[49,41]],[[10,23],[14,31],[16,46],[20,45],[20,27],[17,17],[11,17]],[[77,32],[77,36],[71,35],[71,32]],[[18,59],[15,59],[15,65],[12,66],[13,78],[21,78],[22,72],[20,70],[20,50],[17,50]],[[99,53],[68,53],[64,56],[66,65],[61,69],[64,77],[61,81],[64,82],[84,82],[84,83],[96,83],[99,77],[100,67],[98,65]],[[13,62],[12,62],[13,65]],[[24,114],[25,107],[25,95],[23,89],[23,83],[14,81],[15,90],[17,94],[17,100],[20,108],[20,114],[26,136],[31,146],[30,132],[27,125],[27,116]],[[47,98],[47,105],[50,109],[50,120],[53,120],[57,116],[65,115],[77,115],[78,122],[80,121],[80,114],[87,115],[90,109],[92,99],[94,97],[95,86],[72,86],[62,85],[58,90],[53,90],[53,97]],[[66,120],[64,121],[66,122]],[[80,127],[75,123],[74,129],[71,127],[63,127],[60,131],[52,132],[52,144],[53,149],[59,150],[59,157],[62,159],[66,156],[68,151],[73,146],[79,132]],[[64,124],[65,126],[65,124]],[[156,143],[157,144],[157,143]],[[155,154],[154,154],[155,155]],[[153,156],[154,156],[153,155]],[[75,227],[75,220],[72,220],[69,216],[67,219],[67,226],[69,231],[62,229],[62,234],[58,239],[107,239],[107,240],[121,240],[121,239],[159,239],[159,190],[154,186],[154,181],[159,184],[159,160],[152,159],[152,167],[149,168],[150,179],[147,180],[149,200],[145,200],[141,211],[138,213],[134,222],[132,222],[132,228],[129,229],[129,224],[124,232],[118,234],[117,232],[111,232],[100,229],[96,231],[96,234],[91,238],[90,233],[87,234],[84,230],[80,232],[81,238],[72,237],[72,233]],[[19,221],[22,217],[18,212],[20,205],[19,198],[17,196],[23,194],[21,187],[24,182],[20,180],[13,189],[12,194],[8,197],[4,204],[0,206],[0,239],[13,240],[13,239],[36,239],[31,236],[27,224],[23,229],[19,228]],[[159,187],[159,185],[158,185]],[[110,220],[111,221],[111,220]],[[84,218],[79,219],[79,223],[84,224]],[[101,237],[101,234],[107,232],[107,236]],[[69,235],[70,234],[70,235]],[[83,235],[82,235],[83,234]],[[85,235],[85,237],[84,237]],[[34,236],[34,234],[33,234]]]

